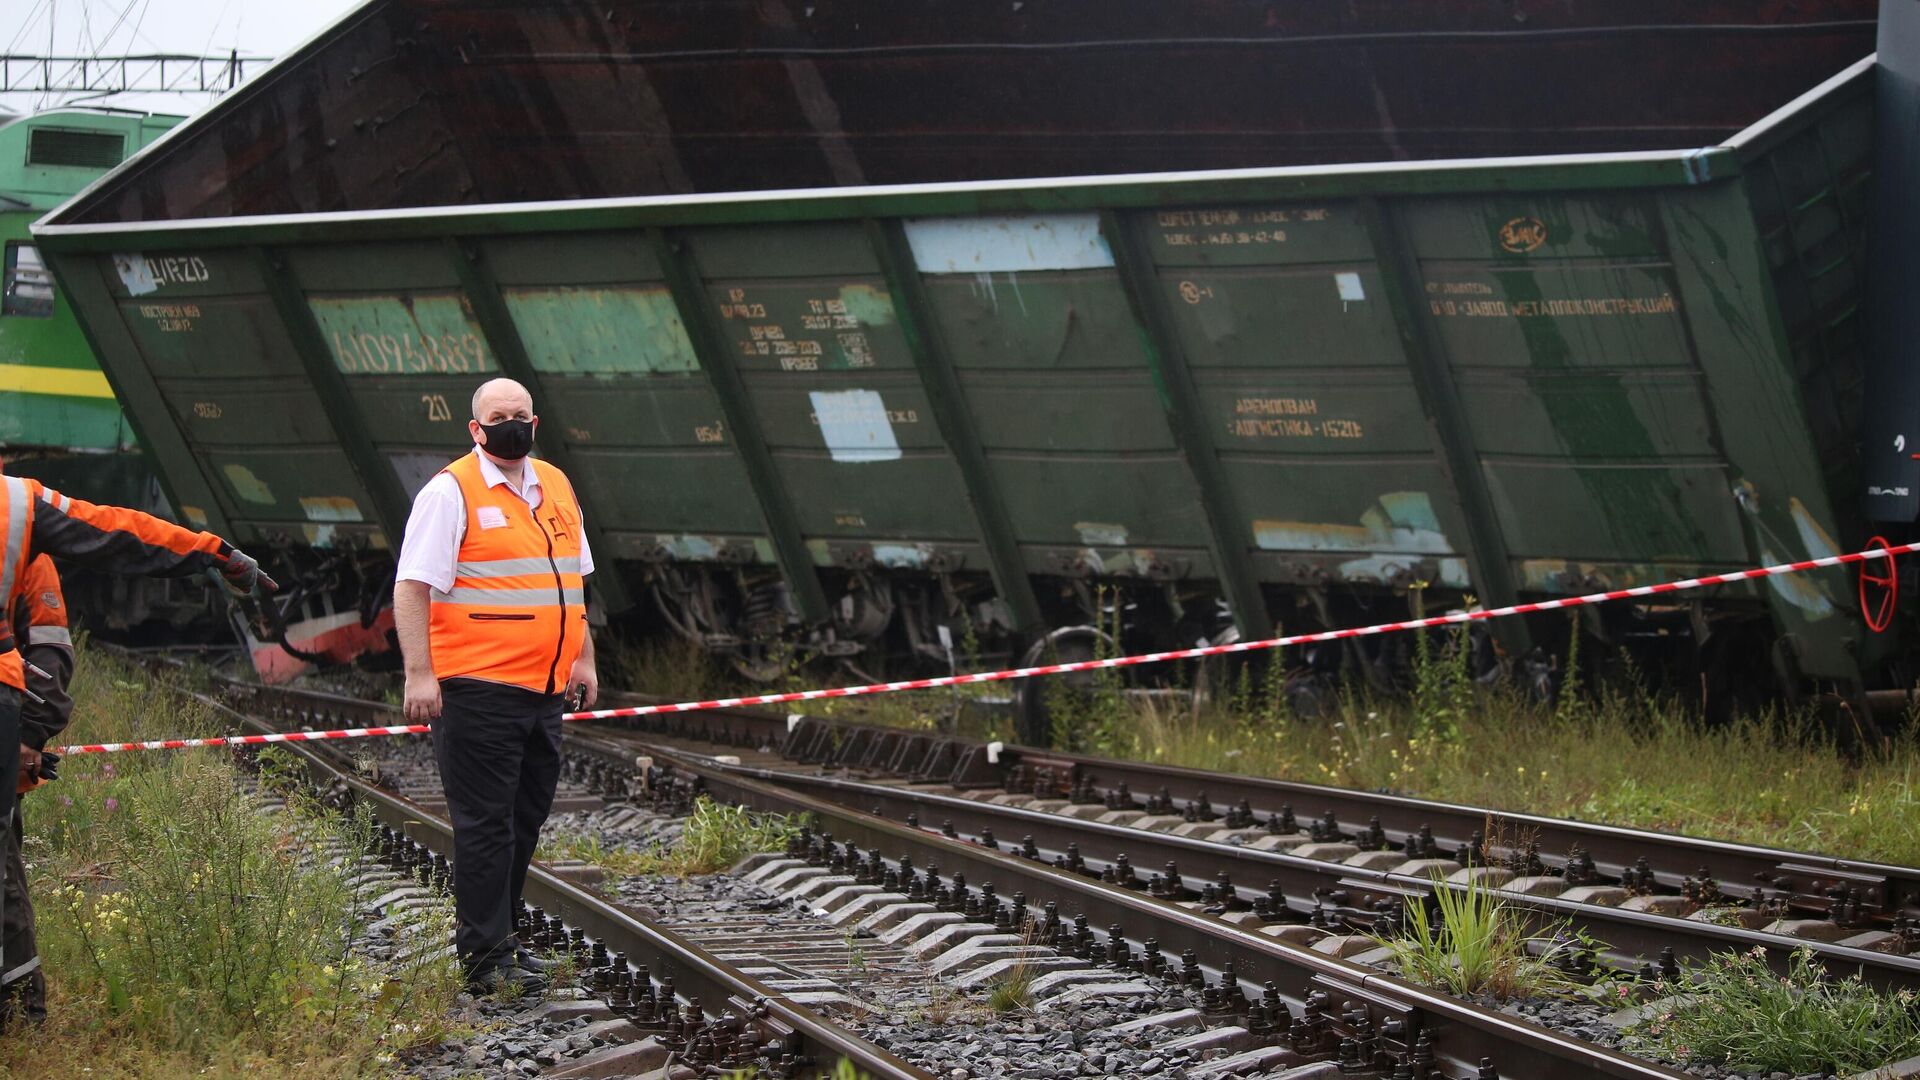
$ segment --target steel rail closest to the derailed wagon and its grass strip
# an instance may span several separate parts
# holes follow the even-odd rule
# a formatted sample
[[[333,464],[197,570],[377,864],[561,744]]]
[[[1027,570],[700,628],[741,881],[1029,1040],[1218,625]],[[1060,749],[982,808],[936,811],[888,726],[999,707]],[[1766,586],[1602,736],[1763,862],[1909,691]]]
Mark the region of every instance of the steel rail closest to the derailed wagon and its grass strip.
[[[624,692],[605,692],[603,698],[634,703],[664,701],[651,694]],[[1711,876],[1720,892],[1734,899],[1788,892],[1791,907],[1820,915],[1832,909],[1830,890],[1851,886],[1868,911],[1885,917],[1920,915],[1920,869],[1914,867],[1029,746],[1000,746],[991,755],[995,761],[989,763],[985,740],[927,736],[925,732],[902,732],[820,717],[793,721],[787,713],[766,709],[714,709],[697,717],[701,719],[691,723],[641,717],[628,721],[628,724],[636,730],[687,738],[701,738],[705,730],[718,736],[714,742],[774,746],[797,761],[868,769],[887,769],[889,755],[908,757],[902,748],[918,738],[929,748],[933,742],[943,744],[956,769],[958,763],[970,767],[970,774],[950,776],[960,786],[1027,790],[1033,778],[1044,780],[1050,774],[1050,784],[1062,794],[1075,784],[1089,784],[1094,792],[1108,796],[1125,784],[1139,798],[1165,790],[1175,803],[1208,799],[1213,805],[1231,807],[1244,801],[1261,817],[1292,809],[1302,822],[1331,813],[1338,830],[1348,836],[1371,828],[1375,819],[1392,842],[1405,842],[1421,828],[1430,828],[1434,840],[1446,849],[1465,847],[1478,834],[1490,844],[1490,855],[1513,855],[1517,851],[1503,847],[1500,840],[1524,838],[1538,844],[1542,863],[1551,869],[1565,869],[1569,851],[1580,847],[1594,859],[1601,876],[1615,880],[1645,859],[1655,882],[1668,890],[1682,888],[1688,876]],[[947,780],[948,776],[924,773],[922,778]]]

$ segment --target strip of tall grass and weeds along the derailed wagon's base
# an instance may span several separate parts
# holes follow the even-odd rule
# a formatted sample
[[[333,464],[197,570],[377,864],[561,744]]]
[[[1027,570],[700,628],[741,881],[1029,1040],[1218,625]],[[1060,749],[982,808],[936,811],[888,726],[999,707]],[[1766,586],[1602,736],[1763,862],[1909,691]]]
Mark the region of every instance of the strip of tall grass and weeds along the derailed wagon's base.
[[[628,675],[611,686],[674,698],[741,690],[693,648],[603,651]],[[1630,680],[1574,686],[1557,705],[1542,705],[1473,686],[1438,634],[1419,651],[1405,696],[1354,690],[1323,719],[1294,717],[1271,676],[1215,675],[1227,686],[1188,707],[1123,694],[1104,673],[1091,692],[1052,700],[1054,742],[1137,761],[1920,865],[1920,723],[1912,719],[1905,734],[1849,761],[1801,715],[1774,711],[1707,726],[1692,701],[1647,694]],[[1194,678],[1167,669],[1164,676]],[[816,678],[795,671],[780,688]],[[945,690],[887,694],[808,709],[933,728],[952,713],[952,698]],[[1012,738],[1004,726],[970,734]]]

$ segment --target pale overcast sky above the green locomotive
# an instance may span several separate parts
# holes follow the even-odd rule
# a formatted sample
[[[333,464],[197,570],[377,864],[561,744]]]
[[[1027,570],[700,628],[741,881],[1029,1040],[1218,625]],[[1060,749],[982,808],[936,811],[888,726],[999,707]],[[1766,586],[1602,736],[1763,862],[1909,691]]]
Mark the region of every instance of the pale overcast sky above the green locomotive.
[[[240,50],[242,56],[282,56],[359,4],[361,0],[0,0],[0,54],[225,56]],[[73,98],[77,94],[0,92],[0,110],[25,113]],[[119,94],[94,98],[92,104],[194,113],[213,100],[211,94]]]

